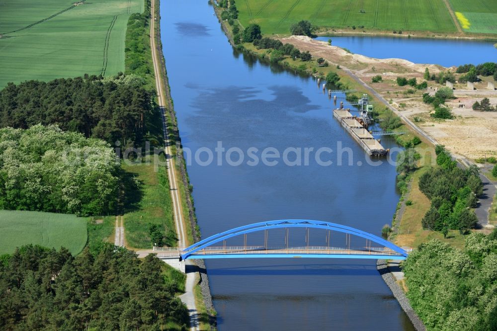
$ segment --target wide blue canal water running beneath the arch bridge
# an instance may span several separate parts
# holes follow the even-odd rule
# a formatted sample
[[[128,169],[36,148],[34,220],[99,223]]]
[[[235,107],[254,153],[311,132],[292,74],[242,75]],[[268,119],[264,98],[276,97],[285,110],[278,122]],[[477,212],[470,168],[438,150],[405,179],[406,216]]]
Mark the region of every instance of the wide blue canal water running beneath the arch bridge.
[[[295,218],[381,235],[399,200],[395,166],[368,164],[373,159],[333,119],[333,101],[315,80],[235,51],[207,1],[162,1],[161,18],[182,143],[193,154],[188,173],[203,238]],[[226,151],[240,149],[232,150],[238,152],[231,165],[224,158],[218,165],[219,142]],[[395,147],[387,139],[382,144]],[[257,149],[258,164],[248,157],[250,148]],[[294,152],[287,164],[280,158],[270,165],[261,161],[266,148],[271,155]],[[299,148],[332,152],[321,154],[320,163],[311,154],[308,165],[305,156],[302,165],[292,165]],[[348,151],[340,152],[341,165],[339,149]],[[208,151],[214,152],[210,164]],[[263,245],[262,236],[249,234],[247,245]],[[286,245],[283,232],[268,236],[269,246]],[[306,246],[305,229],[292,229],[289,238],[290,246]],[[327,245],[322,231],[310,231],[309,238],[311,245]],[[243,238],[227,243],[242,244]],[[344,245],[345,236],[332,233],[331,246]],[[351,247],[364,246],[352,239]],[[222,331],[413,330],[374,260],[220,259],[206,266]]]

